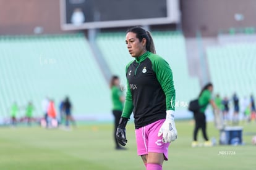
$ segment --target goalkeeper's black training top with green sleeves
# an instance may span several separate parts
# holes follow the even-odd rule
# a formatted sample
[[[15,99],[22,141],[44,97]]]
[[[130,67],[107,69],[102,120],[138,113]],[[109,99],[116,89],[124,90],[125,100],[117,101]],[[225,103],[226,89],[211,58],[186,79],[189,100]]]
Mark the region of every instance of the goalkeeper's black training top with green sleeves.
[[[173,73],[169,64],[151,52],[126,66],[127,94],[122,117],[134,113],[135,129],[166,118],[175,110]]]

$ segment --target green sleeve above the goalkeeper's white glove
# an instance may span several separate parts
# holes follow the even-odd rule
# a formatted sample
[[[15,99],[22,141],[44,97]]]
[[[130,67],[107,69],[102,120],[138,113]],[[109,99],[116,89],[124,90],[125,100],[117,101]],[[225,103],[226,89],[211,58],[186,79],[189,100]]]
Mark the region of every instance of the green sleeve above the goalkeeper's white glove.
[[[176,92],[173,83],[173,71],[169,67],[168,62],[156,54],[148,56],[153,65],[153,70],[156,73],[156,78],[161,84],[166,97],[166,110],[175,110]]]

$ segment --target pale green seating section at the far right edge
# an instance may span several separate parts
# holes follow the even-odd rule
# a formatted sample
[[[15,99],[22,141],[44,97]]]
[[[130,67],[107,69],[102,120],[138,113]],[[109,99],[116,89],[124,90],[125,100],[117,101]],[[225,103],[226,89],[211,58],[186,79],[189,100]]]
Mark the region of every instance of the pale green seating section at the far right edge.
[[[208,47],[207,60],[215,93],[231,97],[255,94],[256,44],[238,43]]]

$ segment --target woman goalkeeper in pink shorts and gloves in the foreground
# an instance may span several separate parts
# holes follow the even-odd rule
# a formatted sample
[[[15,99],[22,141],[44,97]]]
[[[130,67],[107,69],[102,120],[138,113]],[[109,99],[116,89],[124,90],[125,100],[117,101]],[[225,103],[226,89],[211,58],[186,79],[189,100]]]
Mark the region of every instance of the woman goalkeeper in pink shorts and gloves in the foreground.
[[[160,170],[168,160],[170,142],[177,139],[173,73],[156,55],[149,31],[135,26],[126,33],[127,49],[134,60],[126,66],[127,95],[116,137],[119,144],[127,144],[126,124],[133,112],[137,153],[147,170]]]

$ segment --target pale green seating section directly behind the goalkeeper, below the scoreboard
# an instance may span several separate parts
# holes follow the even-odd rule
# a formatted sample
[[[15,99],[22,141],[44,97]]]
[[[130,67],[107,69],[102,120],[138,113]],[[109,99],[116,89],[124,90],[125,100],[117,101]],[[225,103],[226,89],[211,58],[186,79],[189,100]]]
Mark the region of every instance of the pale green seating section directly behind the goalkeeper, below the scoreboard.
[[[153,31],[152,36],[155,41],[156,53],[167,60],[173,70],[176,108],[177,110],[187,109],[182,105],[198,95],[200,86],[197,78],[189,76],[185,38],[181,33],[172,31]],[[122,84],[126,84],[125,66],[132,60],[132,57],[126,48],[125,34],[101,33],[96,42],[112,73],[119,75]]]

